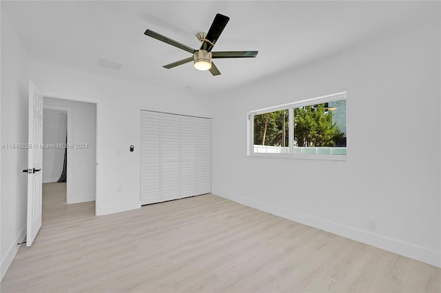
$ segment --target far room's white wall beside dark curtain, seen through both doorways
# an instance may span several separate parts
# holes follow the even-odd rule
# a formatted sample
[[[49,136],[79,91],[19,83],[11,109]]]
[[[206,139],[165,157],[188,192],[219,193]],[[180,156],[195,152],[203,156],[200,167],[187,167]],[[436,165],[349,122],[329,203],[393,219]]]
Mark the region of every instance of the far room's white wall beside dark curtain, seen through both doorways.
[[[43,144],[65,144],[68,130],[68,116],[65,111],[44,110]],[[43,149],[43,183],[57,182],[63,171],[65,149]]]

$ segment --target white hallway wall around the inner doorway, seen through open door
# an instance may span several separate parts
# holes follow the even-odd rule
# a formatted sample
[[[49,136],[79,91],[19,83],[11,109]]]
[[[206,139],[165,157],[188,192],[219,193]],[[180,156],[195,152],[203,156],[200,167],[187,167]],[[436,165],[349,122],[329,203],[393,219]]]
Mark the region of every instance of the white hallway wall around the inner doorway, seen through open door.
[[[68,173],[72,173],[68,175],[68,180],[72,181],[68,182],[68,204],[95,200],[96,104],[48,97],[44,97],[43,103],[45,106],[70,108],[72,138],[68,144],[88,144],[85,149],[75,147],[68,149],[71,164],[68,166]]]

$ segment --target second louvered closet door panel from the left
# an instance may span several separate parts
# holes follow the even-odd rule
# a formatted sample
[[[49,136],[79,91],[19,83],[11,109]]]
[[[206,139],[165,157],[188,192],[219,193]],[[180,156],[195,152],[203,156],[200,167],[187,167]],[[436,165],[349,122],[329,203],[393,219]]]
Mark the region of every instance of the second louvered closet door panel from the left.
[[[179,120],[181,116],[163,113],[162,131],[162,195],[163,201],[178,199],[179,182]]]

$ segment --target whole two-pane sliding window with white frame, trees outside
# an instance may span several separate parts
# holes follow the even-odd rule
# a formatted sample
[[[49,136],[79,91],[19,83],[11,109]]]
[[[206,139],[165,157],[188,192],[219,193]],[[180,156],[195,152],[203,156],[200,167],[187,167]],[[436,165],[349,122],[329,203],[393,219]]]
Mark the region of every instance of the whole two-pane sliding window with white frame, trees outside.
[[[249,112],[249,155],[345,160],[346,93]]]

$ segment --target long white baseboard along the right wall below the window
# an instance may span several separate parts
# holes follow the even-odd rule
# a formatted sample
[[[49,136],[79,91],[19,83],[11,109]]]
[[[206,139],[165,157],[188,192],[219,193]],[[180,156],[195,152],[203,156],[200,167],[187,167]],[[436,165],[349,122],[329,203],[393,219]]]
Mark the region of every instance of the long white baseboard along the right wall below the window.
[[[244,204],[245,206],[250,206],[258,210],[263,210],[267,213],[271,213],[285,219],[290,219],[291,221],[296,221],[307,226],[312,226],[314,228],[325,230],[327,232],[340,235],[342,237],[346,237],[355,241],[360,241],[362,243],[388,250],[390,252],[403,255],[404,257],[417,259],[418,261],[429,263],[430,265],[435,265],[438,268],[441,268],[441,253],[435,250],[416,246],[412,243],[407,243],[398,239],[384,237],[382,235],[369,232],[367,230],[361,230],[358,228],[353,228],[351,226],[345,226],[332,221],[327,221],[325,219],[320,219],[318,217],[296,213],[292,210],[287,210],[286,208],[272,206],[270,204],[257,201],[255,199],[250,199],[248,197],[243,197],[240,195],[234,195],[232,193],[227,193],[216,188],[213,188],[212,193],[214,195],[230,199],[233,202]]]

